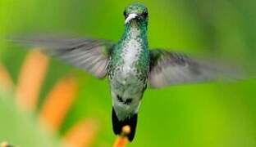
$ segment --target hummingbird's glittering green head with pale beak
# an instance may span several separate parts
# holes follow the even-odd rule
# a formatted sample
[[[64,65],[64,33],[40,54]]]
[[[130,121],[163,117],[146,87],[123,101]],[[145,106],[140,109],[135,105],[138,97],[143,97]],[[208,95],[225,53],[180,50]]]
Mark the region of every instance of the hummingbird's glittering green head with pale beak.
[[[147,7],[145,7],[143,3],[135,2],[126,7],[124,16],[126,18],[125,24],[134,22],[137,24],[148,25],[149,13]]]

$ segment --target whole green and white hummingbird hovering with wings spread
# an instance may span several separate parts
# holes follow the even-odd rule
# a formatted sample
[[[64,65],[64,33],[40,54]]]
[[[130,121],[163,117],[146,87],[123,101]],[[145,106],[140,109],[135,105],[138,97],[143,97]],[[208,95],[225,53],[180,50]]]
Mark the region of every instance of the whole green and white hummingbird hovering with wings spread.
[[[42,47],[48,54],[85,69],[96,78],[108,78],[113,132],[121,135],[122,127],[129,125],[130,134],[127,137],[132,141],[139,105],[148,85],[161,88],[209,81],[223,72],[217,66],[192,59],[183,53],[161,48],[149,50],[149,12],[143,3],[130,4],[123,15],[124,33],[118,42],[94,38],[40,37],[16,41]]]

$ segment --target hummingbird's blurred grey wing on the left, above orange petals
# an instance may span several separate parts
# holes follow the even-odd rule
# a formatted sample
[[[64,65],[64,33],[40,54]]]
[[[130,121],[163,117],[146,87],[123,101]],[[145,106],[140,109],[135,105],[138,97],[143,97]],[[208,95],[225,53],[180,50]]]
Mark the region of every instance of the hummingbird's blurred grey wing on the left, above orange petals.
[[[106,76],[109,56],[114,46],[113,42],[107,40],[77,38],[33,38],[14,42],[42,47],[49,55],[85,69],[97,78]]]

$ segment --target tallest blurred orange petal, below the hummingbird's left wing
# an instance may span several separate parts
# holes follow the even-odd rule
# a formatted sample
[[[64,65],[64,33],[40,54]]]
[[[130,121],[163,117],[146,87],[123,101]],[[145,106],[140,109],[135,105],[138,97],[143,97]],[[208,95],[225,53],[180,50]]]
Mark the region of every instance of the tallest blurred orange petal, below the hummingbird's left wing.
[[[17,103],[22,109],[35,109],[47,68],[48,57],[38,50],[32,50],[25,58],[16,87]]]

